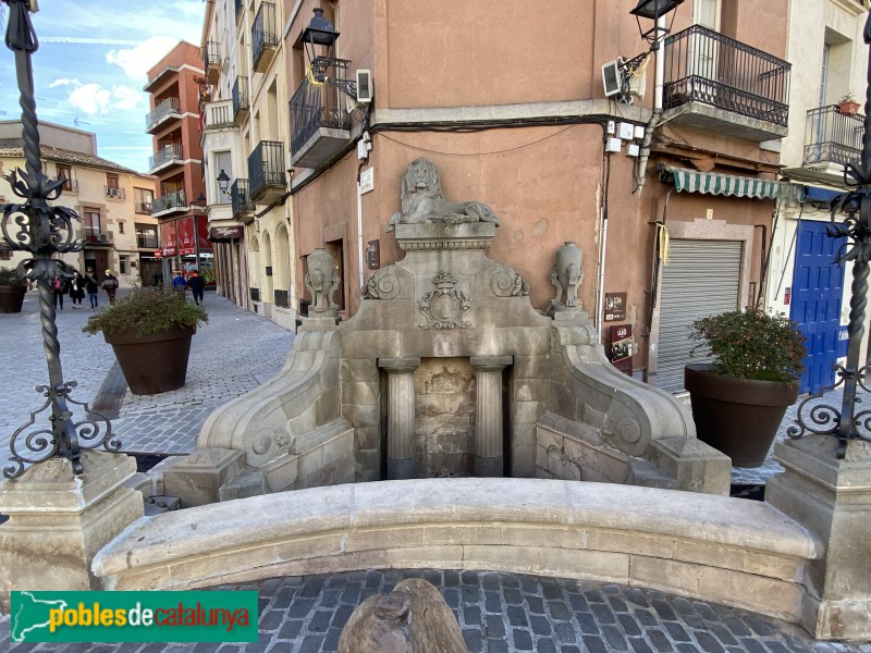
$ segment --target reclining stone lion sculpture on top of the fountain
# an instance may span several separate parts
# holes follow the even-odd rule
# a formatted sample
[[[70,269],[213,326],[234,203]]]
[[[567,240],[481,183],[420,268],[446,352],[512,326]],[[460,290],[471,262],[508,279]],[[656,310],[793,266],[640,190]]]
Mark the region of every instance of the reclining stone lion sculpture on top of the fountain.
[[[415,159],[408,164],[402,180],[402,212],[394,213],[388,225],[429,224],[431,222],[493,222],[499,218],[480,201],[450,201],[442,195],[442,182],[436,164],[429,159]]]

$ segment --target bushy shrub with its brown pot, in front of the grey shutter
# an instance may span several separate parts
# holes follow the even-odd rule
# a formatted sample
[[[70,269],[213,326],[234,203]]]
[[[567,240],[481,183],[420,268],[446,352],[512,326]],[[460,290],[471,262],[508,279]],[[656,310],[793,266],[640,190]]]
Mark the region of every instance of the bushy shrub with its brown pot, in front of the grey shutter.
[[[699,440],[735,467],[759,467],[798,398],[805,336],[783,313],[737,310],[696,320],[689,337],[700,341],[691,354],[713,356],[684,370]]]

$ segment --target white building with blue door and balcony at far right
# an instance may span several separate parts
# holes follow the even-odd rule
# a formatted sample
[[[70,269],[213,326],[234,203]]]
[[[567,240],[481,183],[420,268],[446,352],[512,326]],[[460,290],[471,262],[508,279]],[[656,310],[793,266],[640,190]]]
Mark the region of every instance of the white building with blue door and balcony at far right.
[[[789,94],[781,163],[797,193],[777,207],[768,297],[805,333],[801,391],[819,392],[835,382],[833,366],[847,353],[852,264],[833,264],[846,243],[826,234],[827,202],[847,188],[844,164],[861,155],[868,14],[861,0],[793,0],[789,12],[789,60],[802,84]]]

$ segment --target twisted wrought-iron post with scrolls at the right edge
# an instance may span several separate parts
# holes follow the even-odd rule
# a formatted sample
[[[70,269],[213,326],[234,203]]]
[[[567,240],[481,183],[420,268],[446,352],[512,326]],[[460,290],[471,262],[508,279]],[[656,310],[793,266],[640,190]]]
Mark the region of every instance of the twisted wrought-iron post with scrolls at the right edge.
[[[844,384],[844,399],[841,410],[826,404],[810,405],[809,402],[820,395],[811,395],[799,408],[796,424],[787,429],[790,438],[799,439],[809,433],[831,434],[838,439],[837,456],[843,458],[847,453],[850,440],[871,441],[871,409],[859,410],[862,397],[857,396],[859,389],[866,393],[869,387],[871,366],[861,365],[859,349],[866,329],[866,305],[868,303],[868,274],[871,262],[871,13],[864,25],[864,42],[869,46],[868,87],[864,102],[864,134],[862,135],[862,153],[859,161],[848,163],[844,170],[844,181],[849,189],[836,196],[830,205],[831,224],[829,235],[833,238],[847,238],[837,262],[852,261],[852,285],[850,287],[850,317],[847,334],[847,365],[837,366],[839,377],[835,387]],[[836,222],[838,214],[846,217]],[[808,418],[803,411],[809,407]]]

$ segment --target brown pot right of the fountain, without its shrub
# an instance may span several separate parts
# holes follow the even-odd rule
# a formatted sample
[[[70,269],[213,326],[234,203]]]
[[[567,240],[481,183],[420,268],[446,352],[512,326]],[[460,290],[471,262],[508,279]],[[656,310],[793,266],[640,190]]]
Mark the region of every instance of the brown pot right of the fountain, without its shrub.
[[[698,439],[732,458],[734,467],[765,461],[786,408],[798,398],[798,381],[755,381],[713,374],[710,365],[684,368]]]

